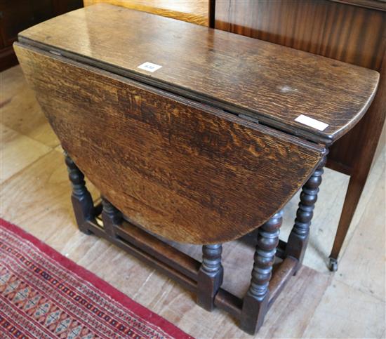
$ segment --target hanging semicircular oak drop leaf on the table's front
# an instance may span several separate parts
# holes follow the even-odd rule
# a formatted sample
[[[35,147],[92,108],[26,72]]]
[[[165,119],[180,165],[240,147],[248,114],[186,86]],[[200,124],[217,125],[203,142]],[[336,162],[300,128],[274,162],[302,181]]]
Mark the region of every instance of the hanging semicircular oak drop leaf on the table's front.
[[[62,147],[134,223],[220,243],[255,229],[324,148],[123,77],[15,45]]]

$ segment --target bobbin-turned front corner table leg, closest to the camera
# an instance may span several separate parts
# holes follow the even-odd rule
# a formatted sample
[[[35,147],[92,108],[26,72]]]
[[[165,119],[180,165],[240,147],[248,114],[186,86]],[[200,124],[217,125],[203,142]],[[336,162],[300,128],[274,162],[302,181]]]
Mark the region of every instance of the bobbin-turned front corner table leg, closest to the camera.
[[[281,211],[276,213],[258,228],[258,244],[254,256],[251,285],[244,296],[240,323],[240,327],[252,335],[262,326],[267,313],[268,285],[272,276],[276,248],[279,244],[282,214]]]

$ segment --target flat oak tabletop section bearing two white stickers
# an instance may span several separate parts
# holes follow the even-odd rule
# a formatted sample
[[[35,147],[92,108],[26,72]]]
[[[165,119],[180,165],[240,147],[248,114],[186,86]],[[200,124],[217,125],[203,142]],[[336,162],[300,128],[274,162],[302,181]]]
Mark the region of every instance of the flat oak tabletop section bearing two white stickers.
[[[368,69],[107,4],[48,20],[19,40],[317,142],[350,130],[378,84]],[[149,73],[138,69],[143,62],[162,68]],[[328,127],[300,124],[300,114]]]

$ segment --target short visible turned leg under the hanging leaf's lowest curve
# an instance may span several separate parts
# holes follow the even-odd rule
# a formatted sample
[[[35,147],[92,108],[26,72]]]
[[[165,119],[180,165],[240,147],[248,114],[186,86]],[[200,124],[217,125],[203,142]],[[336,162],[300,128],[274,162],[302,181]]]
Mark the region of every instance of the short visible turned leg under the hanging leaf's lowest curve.
[[[214,298],[222,284],[222,245],[202,246],[202,263],[197,280],[197,303],[205,310],[214,308]]]

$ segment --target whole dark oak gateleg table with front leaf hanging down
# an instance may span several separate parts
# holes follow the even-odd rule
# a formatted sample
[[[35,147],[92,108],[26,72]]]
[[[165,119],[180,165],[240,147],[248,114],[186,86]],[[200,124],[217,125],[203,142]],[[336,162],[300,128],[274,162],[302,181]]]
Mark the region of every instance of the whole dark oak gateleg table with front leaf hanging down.
[[[302,265],[328,147],[364,116],[379,74],[106,4],[31,27],[14,48],[65,149],[79,229],[258,331]],[[298,190],[293,230],[279,241],[281,209]],[[222,244],[253,231],[241,299],[221,288]],[[202,245],[202,261],[157,236]]]

